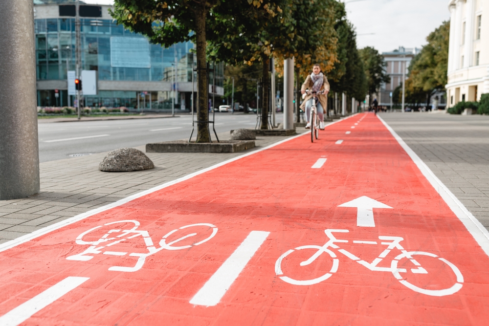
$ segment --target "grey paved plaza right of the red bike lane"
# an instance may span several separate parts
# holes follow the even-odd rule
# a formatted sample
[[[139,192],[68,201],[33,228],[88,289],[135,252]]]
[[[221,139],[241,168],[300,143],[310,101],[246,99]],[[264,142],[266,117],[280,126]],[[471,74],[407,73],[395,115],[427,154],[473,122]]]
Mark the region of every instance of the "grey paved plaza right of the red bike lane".
[[[489,230],[489,116],[430,112],[380,116]]]

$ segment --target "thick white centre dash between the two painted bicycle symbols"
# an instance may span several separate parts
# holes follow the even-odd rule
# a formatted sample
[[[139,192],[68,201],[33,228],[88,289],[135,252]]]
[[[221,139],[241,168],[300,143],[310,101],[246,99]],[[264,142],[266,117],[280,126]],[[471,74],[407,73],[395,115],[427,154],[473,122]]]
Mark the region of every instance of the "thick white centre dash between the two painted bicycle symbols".
[[[238,278],[248,261],[269,234],[270,232],[265,231],[251,231],[240,246],[211,276],[209,281],[200,288],[199,292],[190,300],[190,303],[205,306],[219,304],[226,291]]]

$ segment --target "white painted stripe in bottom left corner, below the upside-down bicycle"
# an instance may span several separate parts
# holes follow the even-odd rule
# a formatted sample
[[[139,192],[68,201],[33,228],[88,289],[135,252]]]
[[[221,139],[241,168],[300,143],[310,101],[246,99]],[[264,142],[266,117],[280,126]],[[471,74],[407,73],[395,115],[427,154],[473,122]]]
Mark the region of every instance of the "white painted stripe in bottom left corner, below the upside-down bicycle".
[[[63,281],[54,284],[34,298],[24,302],[23,304],[7,312],[5,315],[1,316],[0,325],[17,326],[22,324],[33,314],[43,309],[47,305],[52,304],[87,280],[89,280],[89,277],[68,276]]]

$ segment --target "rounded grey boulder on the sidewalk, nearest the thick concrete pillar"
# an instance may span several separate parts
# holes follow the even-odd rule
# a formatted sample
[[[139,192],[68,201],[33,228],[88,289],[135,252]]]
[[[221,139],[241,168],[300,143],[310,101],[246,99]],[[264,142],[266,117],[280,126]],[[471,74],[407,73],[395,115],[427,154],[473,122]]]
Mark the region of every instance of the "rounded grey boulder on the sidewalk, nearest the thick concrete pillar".
[[[98,169],[105,172],[128,172],[153,169],[155,164],[146,154],[134,148],[120,148],[109,152]]]

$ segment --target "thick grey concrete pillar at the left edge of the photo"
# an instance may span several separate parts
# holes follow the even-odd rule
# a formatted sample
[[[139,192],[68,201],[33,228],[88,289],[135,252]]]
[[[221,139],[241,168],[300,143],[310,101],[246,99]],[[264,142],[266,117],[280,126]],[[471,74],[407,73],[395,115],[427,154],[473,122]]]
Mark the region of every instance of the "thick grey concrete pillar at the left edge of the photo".
[[[40,190],[33,9],[2,1],[0,10],[0,200]]]

